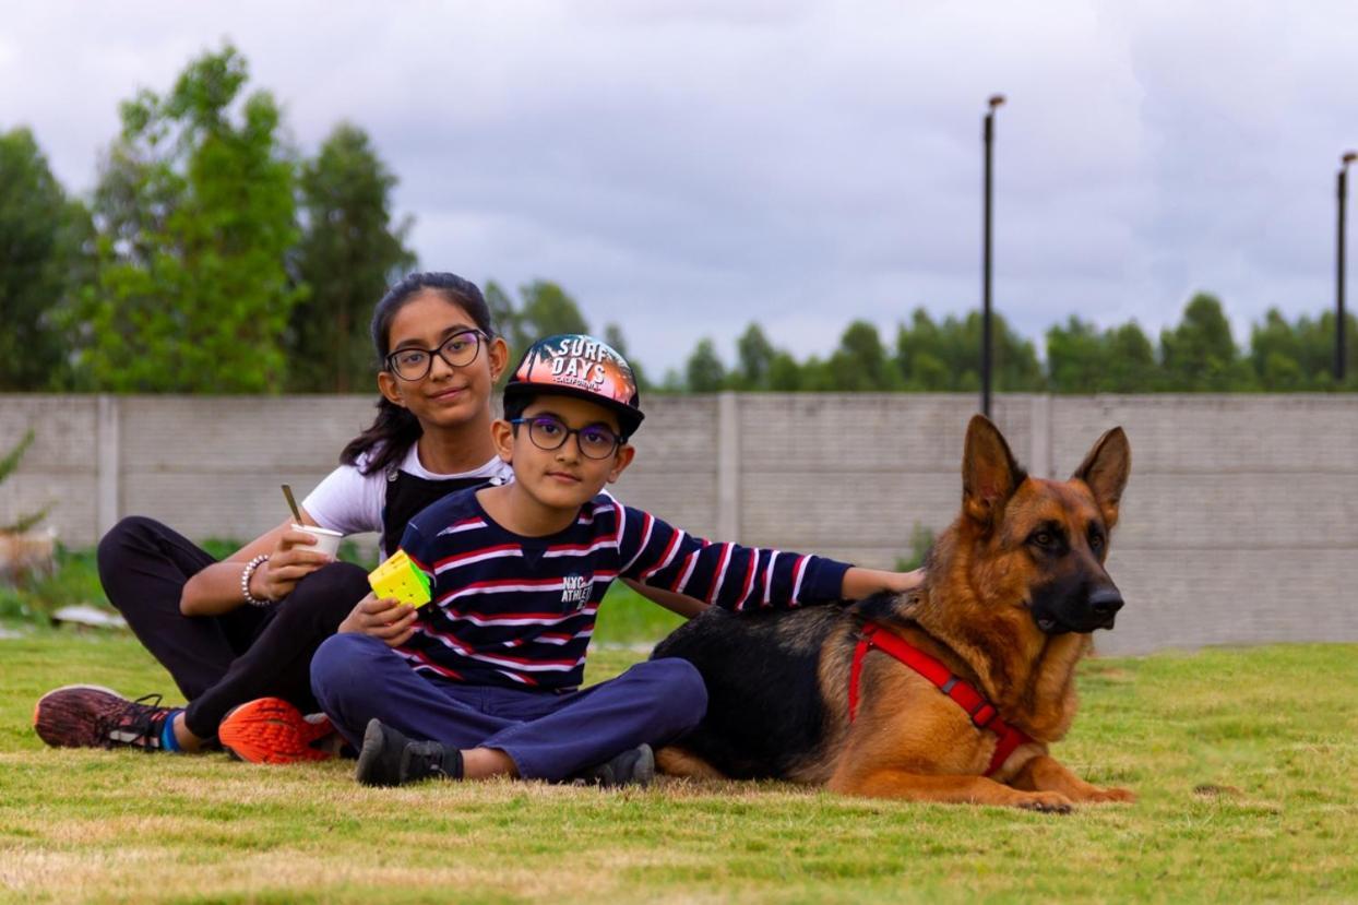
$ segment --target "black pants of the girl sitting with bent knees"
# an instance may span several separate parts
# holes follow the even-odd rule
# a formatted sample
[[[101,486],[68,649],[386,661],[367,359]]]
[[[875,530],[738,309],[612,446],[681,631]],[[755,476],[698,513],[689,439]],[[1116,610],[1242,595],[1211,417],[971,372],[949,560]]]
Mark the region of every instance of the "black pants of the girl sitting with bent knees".
[[[304,713],[319,711],[311,694],[311,655],[368,592],[367,573],[333,563],[273,606],[185,616],[183,586],[213,563],[183,535],[139,515],[99,541],[103,591],[189,701],[185,726],[212,738],[227,711],[257,697],[281,697]]]

